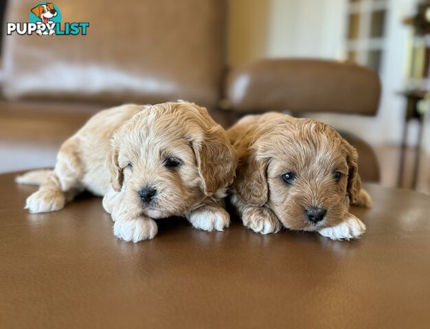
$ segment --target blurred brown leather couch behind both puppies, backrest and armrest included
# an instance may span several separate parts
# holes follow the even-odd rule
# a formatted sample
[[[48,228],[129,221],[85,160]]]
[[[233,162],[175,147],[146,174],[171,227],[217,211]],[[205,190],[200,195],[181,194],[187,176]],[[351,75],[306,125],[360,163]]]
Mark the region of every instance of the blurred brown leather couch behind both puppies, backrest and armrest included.
[[[0,104],[0,117],[6,131],[0,136],[3,142],[19,138],[15,145],[27,145],[13,147],[16,157],[10,161],[14,169],[54,164],[53,152],[48,152],[48,160],[43,162],[36,156],[27,158],[25,166],[19,159],[25,158],[28,145],[32,149],[47,147],[36,143],[41,134],[47,134],[56,148],[64,132],[73,132],[82,124],[82,115],[87,118],[118,103],[187,99],[206,106],[225,127],[244,114],[270,110],[288,110],[295,115],[374,115],[378,108],[378,76],[354,64],[280,59],[227,69],[225,1],[54,3],[63,23],[89,22],[88,34],[12,34],[3,40],[5,101]],[[30,0],[8,1],[5,21],[26,21],[33,6]],[[78,119],[71,119],[73,113]],[[46,131],[28,125],[22,132],[21,121],[45,123],[52,117],[56,121],[48,120],[52,125]],[[51,130],[54,133],[49,135]],[[55,133],[57,130],[60,132]],[[378,181],[372,149],[357,137],[347,138],[359,151],[362,179]]]

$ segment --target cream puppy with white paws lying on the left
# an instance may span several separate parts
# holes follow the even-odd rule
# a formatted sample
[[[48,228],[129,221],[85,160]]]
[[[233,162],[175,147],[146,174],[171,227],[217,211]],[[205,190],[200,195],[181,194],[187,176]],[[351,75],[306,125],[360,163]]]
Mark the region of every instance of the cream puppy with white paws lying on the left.
[[[60,148],[54,171],[30,171],[21,184],[41,184],[30,212],[60,210],[83,190],[104,196],[115,236],[152,239],[154,219],[184,216],[196,228],[223,230],[222,198],[237,156],[225,131],[194,103],[126,105],[95,114]]]

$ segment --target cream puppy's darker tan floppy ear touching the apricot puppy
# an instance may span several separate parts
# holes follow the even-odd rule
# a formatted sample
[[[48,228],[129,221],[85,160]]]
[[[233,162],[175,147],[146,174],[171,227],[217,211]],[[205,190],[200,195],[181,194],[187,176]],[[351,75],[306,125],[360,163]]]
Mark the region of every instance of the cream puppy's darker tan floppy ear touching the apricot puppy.
[[[233,182],[238,158],[220,125],[203,132],[200,138],[192,141],[192,147],[205,195],[214,195]]]

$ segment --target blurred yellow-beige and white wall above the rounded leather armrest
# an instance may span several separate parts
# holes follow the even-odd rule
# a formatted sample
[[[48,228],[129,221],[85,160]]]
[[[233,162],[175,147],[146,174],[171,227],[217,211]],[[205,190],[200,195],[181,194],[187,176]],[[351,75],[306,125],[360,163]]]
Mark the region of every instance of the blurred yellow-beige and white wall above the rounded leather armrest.
[[[232,66],[276,57],[341,58],[345,0],[229,0]]]

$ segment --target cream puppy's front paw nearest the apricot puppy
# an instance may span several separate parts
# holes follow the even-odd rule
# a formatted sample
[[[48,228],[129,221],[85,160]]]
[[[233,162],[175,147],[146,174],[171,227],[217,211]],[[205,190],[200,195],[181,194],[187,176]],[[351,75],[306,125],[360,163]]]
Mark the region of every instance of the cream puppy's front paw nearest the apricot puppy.
[[[191,212],[190,223],[205,231],[223,231],[230,225],[230,215],[223,208],[199,208]]]

